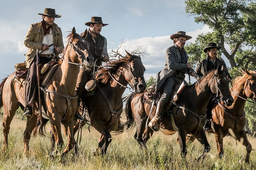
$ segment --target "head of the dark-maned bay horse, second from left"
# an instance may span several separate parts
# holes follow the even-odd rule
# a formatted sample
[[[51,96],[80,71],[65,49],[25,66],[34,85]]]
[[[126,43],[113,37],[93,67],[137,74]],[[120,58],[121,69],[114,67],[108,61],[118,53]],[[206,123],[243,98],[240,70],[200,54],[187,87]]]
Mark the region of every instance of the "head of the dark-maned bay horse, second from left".
[[[130,72],[128,72],[128,74],[125,74],[125,79],[131,84],[134,92],[136,92],[137,94],[143,93],[147,85],[144,79],[144,72],[146,69],[141,62],[141,57],[137,55],[132,55],[127,51],[125,52],[127,53],[127,56],[131,58],[130,62],[127,65],[127,67],[130,68]]]

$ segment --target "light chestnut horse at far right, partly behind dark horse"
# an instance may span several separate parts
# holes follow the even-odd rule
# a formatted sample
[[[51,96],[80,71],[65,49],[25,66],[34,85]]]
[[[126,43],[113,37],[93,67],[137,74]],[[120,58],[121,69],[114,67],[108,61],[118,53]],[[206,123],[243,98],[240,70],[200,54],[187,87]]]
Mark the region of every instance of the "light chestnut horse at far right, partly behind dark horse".
[[[224,155],[223,138],[231,135],[246,147],[247,153],[244,161],[249,163],[252,147],[244,131],[244,106],[247,98],[251,98],[254,102],[256,100],[256,73],[253,71],[248,72],[247,70],[241,72],[242,76],[233,80],[233,86],[230,89],[234,103],[229,107],[224,107],[223,103],[219,103],[212,108],[213,131],[211,133],[215,133],[219,158]],[[188,141],[193,140],[193,137],[188,138]]]

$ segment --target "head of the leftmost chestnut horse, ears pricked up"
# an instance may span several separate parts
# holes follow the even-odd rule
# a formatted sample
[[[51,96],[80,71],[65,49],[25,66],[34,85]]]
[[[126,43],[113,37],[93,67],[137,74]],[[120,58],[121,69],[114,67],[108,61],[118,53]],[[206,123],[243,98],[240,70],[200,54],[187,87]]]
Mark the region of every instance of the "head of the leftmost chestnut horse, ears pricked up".
[[[87,30],[85,30],[87,33]],[[82,36],[76,33],[75,27],[73,27],[70,35],[70,59],[74,63],[80,63],[82,67],[90,68],[93,66],[94,58],[90,53],[89,46],[90,44]],[[73,50],[71,50],[73,48]]]

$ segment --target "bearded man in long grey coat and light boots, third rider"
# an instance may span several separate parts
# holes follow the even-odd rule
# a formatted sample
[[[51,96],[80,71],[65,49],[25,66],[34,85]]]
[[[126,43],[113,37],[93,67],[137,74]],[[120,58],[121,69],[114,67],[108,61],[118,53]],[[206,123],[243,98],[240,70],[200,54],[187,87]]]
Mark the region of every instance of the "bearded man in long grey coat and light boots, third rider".
[[[149,122],[149,127],[154,131],[158,131],[161,125],[161,118],[165,112],[167,102],[170,101],[173,88],[177,83],[183,82],[185,79],[185,73],[187,68],[192,67],[192,64],[188,62],[188,54],[184,49],[186,40],[191,39],[186,32],[179,31],[170,36],[174,45],[167,48],[165,53],[165,65],[164,68],[156,75],[156,90],[159,90],[161,86],[164,87],[164,92],[158,101],[156,107],[156,114],[154,118]],[[170,102],[168,107],[171,107]]]

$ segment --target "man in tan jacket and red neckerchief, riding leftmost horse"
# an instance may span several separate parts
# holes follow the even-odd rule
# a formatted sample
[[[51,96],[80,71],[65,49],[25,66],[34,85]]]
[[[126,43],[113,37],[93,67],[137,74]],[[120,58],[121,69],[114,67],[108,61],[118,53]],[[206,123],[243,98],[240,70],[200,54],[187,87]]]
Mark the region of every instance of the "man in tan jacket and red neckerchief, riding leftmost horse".
[[[55,18],[61,17],[56,15],[55,9],[45,8],[42,15],[42,21],[33,23],[27,32],[24,40],[24,45],[28,47],[26,55],[26,67],[29,68],[27,78],[26,92],[26,106],[24,115],[32,115],[32,106],[35,98],[34,90],[37,86],[37,66],[36,66],[36,49],[39,49],[39,63],[44,65],[51,60],[56,60],[56,57],[64,49],[61,28],[54,23]],[[36,94],[35,94],[36,95]]]

